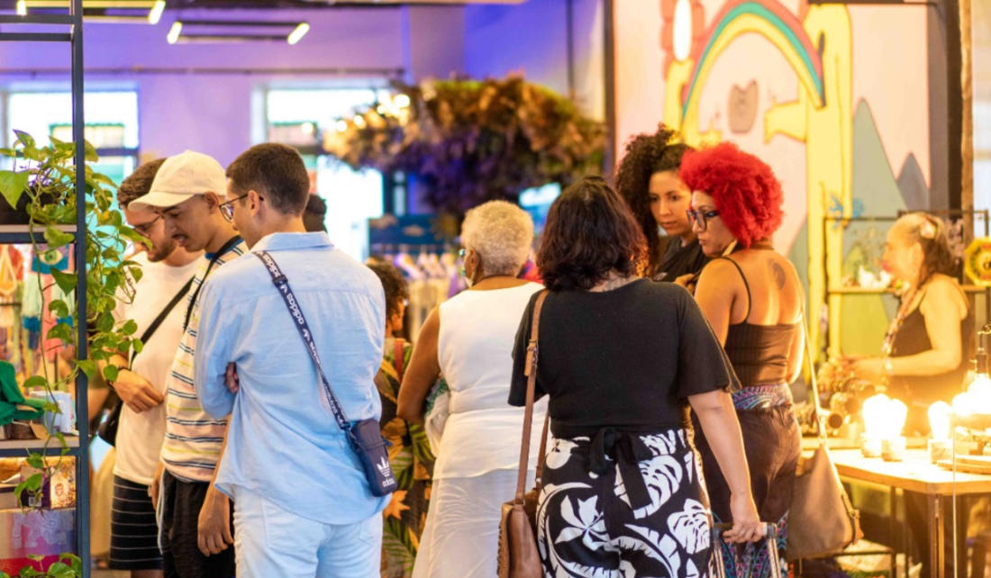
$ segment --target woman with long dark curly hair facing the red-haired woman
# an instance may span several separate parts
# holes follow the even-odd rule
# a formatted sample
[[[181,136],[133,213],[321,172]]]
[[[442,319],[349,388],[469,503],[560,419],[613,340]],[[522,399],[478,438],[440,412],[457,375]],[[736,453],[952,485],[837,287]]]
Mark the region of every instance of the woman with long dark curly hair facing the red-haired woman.
[[[633,137],[616,168],[615,184],[647,240],[647,277],[687,285],[708,258],[688,220],[692,191],[678,178],[682,156],[692,147],[673,143],[674,138],[664,125],[653,135]],[[658,227],[668,236],[663,254]]]

